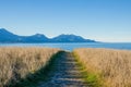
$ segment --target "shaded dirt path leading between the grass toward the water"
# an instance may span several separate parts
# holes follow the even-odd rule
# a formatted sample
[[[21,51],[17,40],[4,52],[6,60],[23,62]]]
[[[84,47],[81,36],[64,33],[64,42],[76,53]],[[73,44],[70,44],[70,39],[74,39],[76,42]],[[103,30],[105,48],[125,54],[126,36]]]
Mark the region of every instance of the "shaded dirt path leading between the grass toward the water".
[[[53,64],[53,71],[47,82],[38,87],[88,87],[83,82],[81,66],[70,52],[63,52]]]

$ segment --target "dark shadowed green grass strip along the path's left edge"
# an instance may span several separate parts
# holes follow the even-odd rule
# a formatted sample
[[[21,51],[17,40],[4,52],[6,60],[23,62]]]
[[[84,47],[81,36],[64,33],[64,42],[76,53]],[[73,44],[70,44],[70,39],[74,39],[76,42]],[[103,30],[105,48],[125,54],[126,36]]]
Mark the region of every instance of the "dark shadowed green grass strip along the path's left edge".
[[[53,70],[52,64],[55,60],[62,53],[63,51],[59,51],[58,53],[53,54],[48,62],[48,64],[40,70],[29,73],[26,75],[26,78],[22,78],[16,84],[10,84],[8,87],[36,87],[39,82],[46,82],[48,79],[48,75],[50,71]]]

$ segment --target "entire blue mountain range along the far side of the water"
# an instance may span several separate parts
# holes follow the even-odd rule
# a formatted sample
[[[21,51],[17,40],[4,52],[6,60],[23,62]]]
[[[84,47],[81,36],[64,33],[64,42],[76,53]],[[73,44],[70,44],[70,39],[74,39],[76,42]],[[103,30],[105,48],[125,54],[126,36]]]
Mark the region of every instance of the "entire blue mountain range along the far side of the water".
[[[0,42],[96,42],[95,40],[84,39],[76,35],[59,35],[53,38],[48,38],[43,34],[32,36],[19,36],[8,32],[5,28],[0,28]]]

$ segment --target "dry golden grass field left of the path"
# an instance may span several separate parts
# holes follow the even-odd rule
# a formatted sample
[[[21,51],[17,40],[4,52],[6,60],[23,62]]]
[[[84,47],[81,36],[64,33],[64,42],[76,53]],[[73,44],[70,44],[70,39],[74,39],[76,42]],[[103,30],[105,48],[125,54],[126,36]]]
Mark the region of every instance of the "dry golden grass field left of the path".
[[[58,51],[51,48],[0,48],[0,87],[35,73]]]

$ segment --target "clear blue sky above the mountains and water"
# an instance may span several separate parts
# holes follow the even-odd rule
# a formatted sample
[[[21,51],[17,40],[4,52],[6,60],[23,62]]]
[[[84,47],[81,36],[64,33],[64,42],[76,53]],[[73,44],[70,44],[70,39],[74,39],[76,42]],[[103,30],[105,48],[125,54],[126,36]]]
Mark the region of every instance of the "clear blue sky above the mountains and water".
[[[131,0],[0,0],[0,27],[19,35],[131,42]]]

